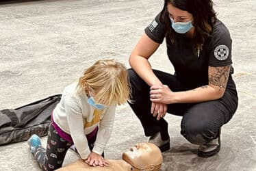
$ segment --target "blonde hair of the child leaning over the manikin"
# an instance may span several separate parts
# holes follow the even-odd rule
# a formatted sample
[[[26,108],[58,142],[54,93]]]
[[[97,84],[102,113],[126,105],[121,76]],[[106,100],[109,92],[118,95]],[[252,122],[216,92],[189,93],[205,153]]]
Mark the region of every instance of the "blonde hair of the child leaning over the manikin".
[[[115,60],[99,60],[79,78],[77,88],[87,94],[89,89],[96,92],[93,96],[96,103],[121,105],[129,100],[130,94],[127,68]]]

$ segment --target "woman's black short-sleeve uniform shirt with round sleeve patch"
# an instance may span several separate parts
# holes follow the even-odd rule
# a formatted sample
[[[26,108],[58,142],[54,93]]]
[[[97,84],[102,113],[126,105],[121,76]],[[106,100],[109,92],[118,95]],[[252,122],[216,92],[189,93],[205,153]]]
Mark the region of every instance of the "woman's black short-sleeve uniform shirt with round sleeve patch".
[[[166,23],[162,23],[159,17],[160,14],[146,27],[145,33],[153,41],[161,44],[167,28]],[[205,41],[199,56],[193,52],[192,39],[187,38],[185,34],[177,34],[173,44],[170,38],[166,38],[168,57],[175,68],[177,79],[190,88],[207,85],[208,66],[232,64],[231,42],[229,30],[220,21],[214,25],[212,37]],[[233,73],[233,68],[230,73]]]

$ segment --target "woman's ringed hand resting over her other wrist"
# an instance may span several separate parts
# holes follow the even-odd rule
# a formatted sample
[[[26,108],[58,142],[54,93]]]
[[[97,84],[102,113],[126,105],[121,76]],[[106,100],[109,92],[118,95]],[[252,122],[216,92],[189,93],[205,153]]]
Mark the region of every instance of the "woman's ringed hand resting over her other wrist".
[[[166,85],[151,86],[150,88],[150,100],[152,102],[171,104],[174,101],[174,92]]]

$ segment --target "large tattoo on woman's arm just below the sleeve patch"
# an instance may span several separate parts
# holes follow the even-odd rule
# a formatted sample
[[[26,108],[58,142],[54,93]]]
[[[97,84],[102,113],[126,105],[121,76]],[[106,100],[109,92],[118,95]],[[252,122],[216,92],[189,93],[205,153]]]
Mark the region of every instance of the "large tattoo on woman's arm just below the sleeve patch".
[[[230,66],[209,66],[209,83],[214,86],[218,86],[220,89],[225,89],[227,86],[227,80],[229,79],[229,70]]]

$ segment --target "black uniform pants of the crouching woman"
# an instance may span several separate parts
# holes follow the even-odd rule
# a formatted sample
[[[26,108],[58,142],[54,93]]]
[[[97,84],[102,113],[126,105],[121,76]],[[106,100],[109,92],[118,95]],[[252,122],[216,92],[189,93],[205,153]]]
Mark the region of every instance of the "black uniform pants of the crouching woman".
[[[153,70],[163,84],[173,92],[185,91],[190,88],[182,85],[174,75]],[[149,99],[150,87],[132,69],[128,70],[131,83],[131,109],[140,119],[146,136],[161,131],[163,138],[168,137],[168,123],[164,118],[157,120],[151,114]],[[229,81],[233,81],[230,77]],[[235,85],[233,83],[233,85]],[[238,107],[238,96],[235,88],[226,89],[222,98],[203,103],[175,103],[168,105],[167,112],[182,116],[181,135],[192,144],[206,144],[218,136],[218,130],[229,122]]]

